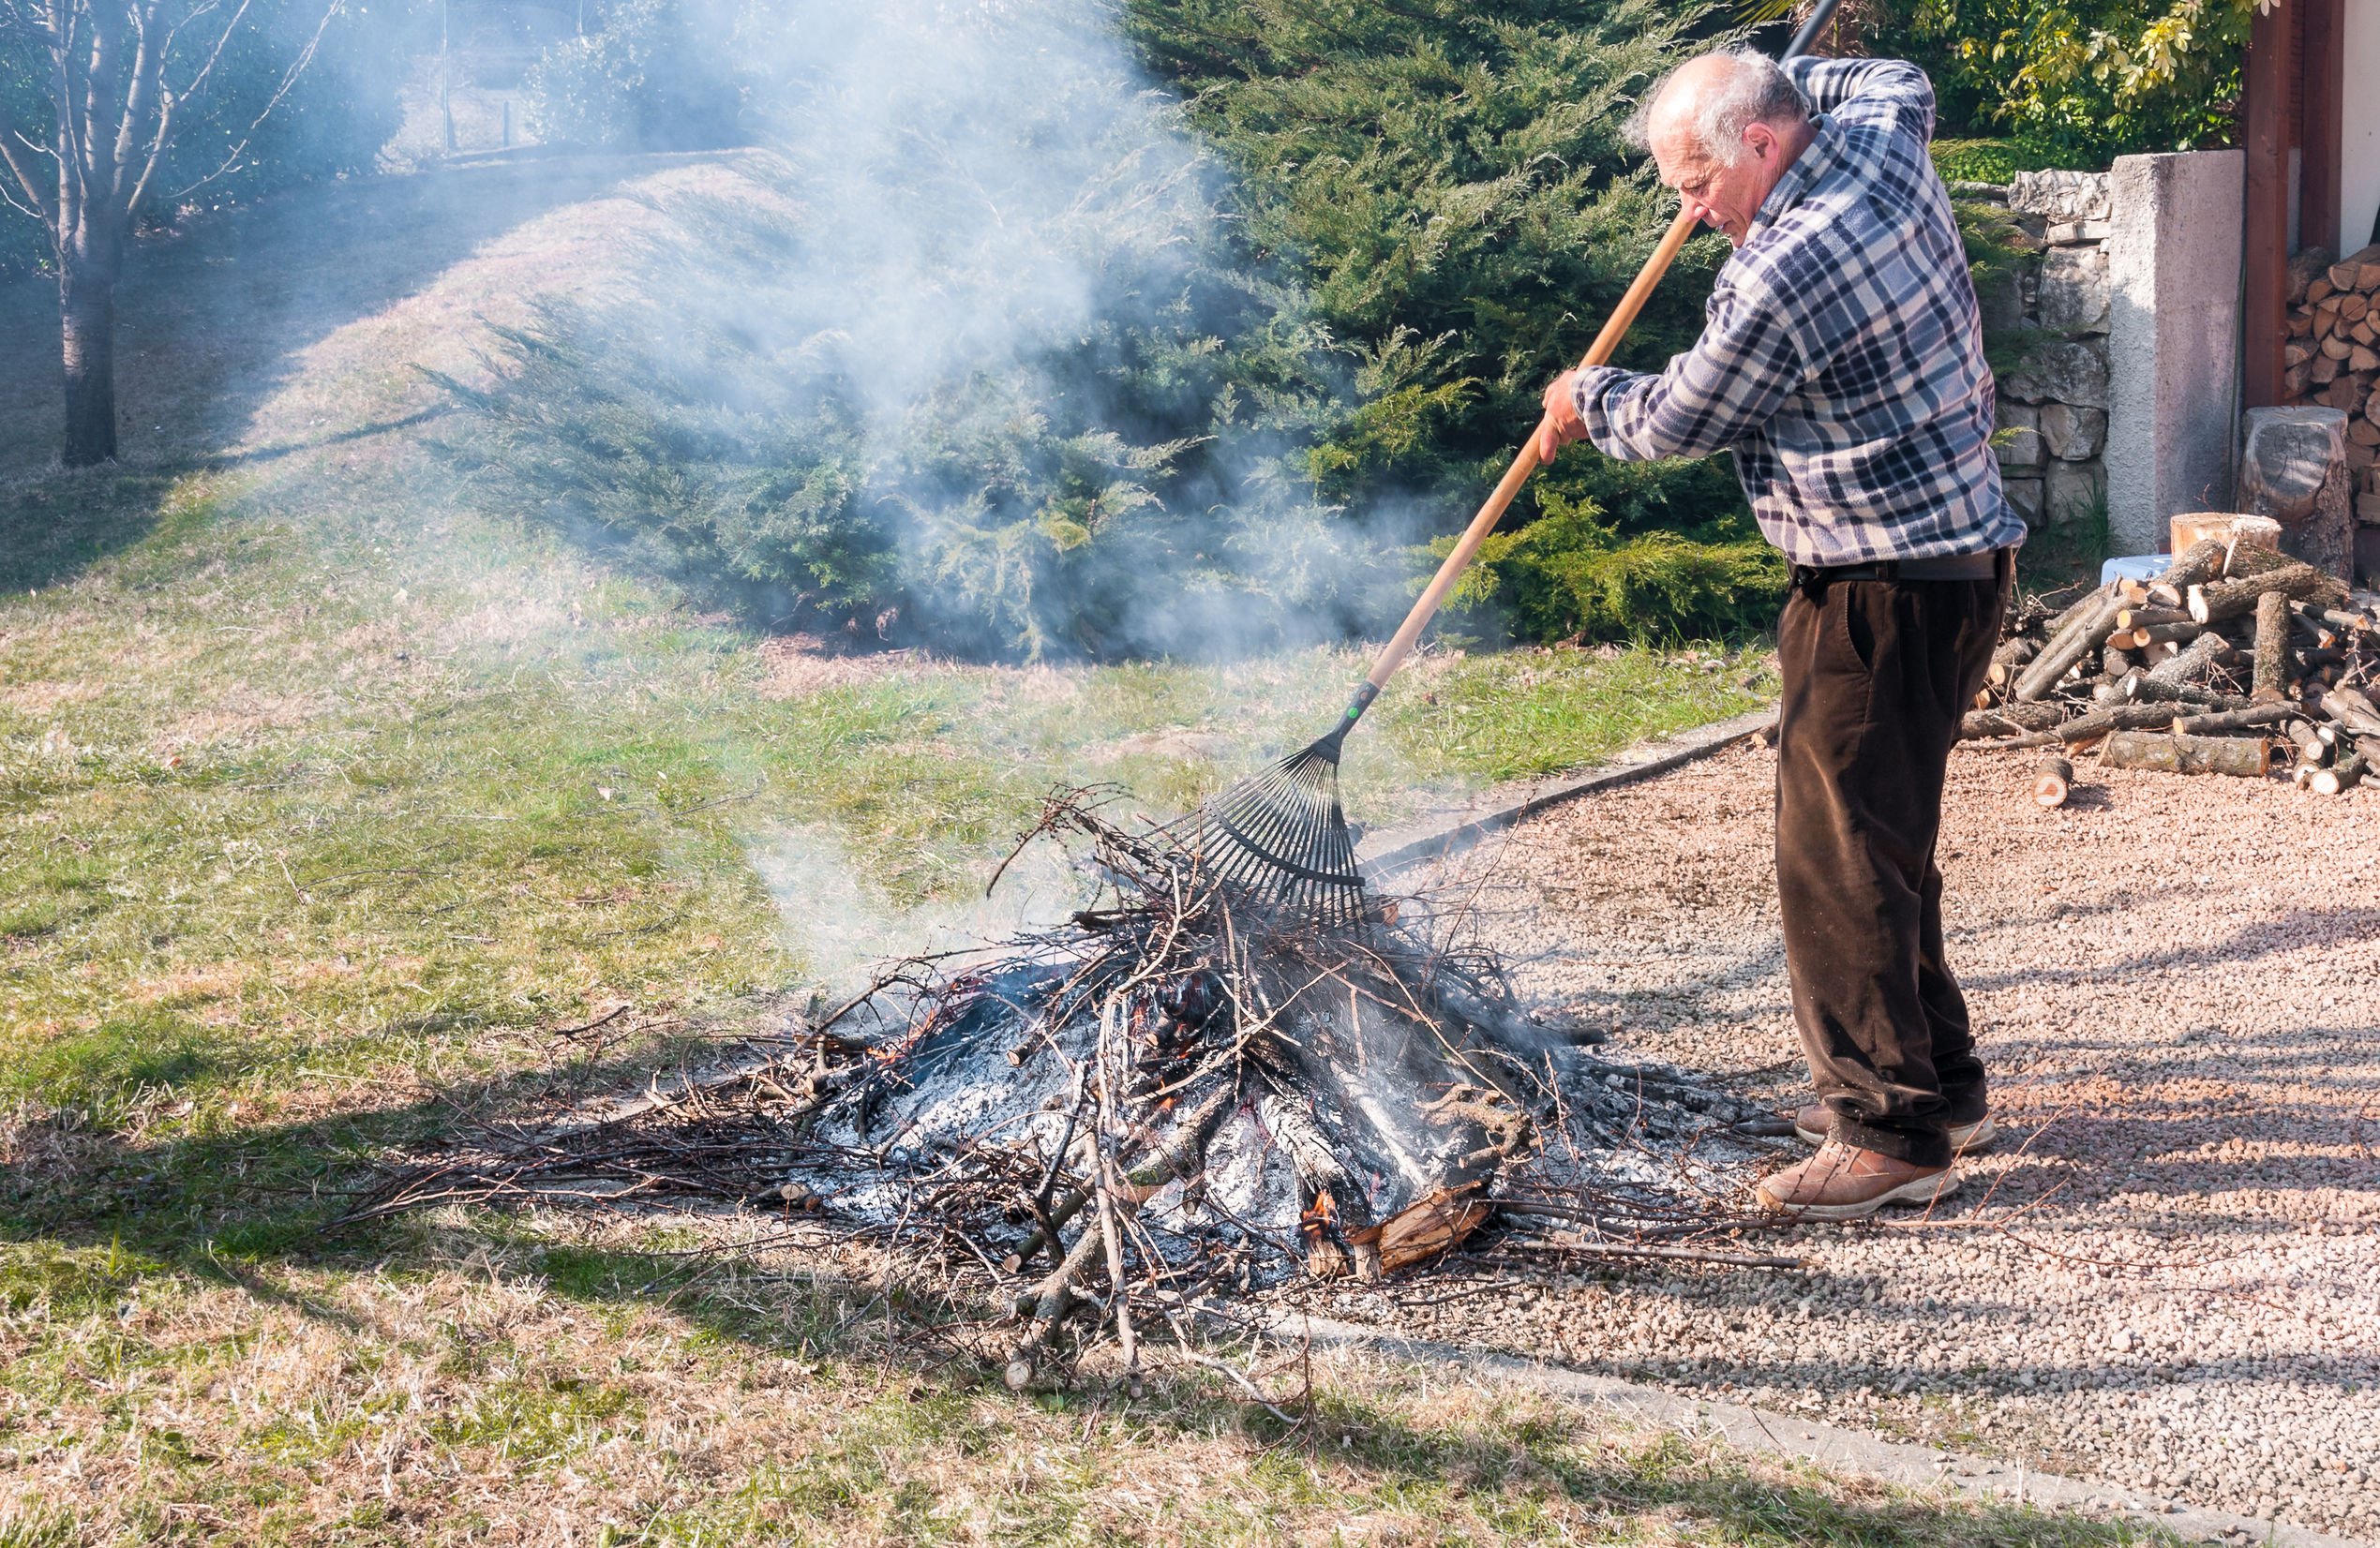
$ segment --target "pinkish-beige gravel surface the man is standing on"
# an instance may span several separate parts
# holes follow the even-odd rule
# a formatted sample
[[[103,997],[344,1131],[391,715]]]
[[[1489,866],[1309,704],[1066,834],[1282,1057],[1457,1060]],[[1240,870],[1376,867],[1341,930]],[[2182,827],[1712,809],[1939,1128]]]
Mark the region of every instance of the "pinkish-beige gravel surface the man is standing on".
[[[1930,1222],[1761,1234],[1811,1275],[1568,1275],[1340,1315],[2380,1538],[2380,789],[1961,749],[1952,965],[2004,1125]],[[1773,754],[1559,806],[1454,863],[1606,1053],[1806,1096]],[[1780,1160],[1799,1149],[1780,1149]],[[1326,1310],[1326,1305],[1316,1305]]]

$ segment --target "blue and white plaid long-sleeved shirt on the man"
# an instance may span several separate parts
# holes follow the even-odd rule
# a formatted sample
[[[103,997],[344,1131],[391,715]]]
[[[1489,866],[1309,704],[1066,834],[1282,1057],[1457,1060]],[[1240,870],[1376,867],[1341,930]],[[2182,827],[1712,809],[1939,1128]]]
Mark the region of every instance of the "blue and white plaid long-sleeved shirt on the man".
[[[1933,83],[1897,59],[1785,64],[1818,112],[1702,338],[1659,376],[1578,373],[1611,457],[1735,449],[1752,514],[1795,564],[1980,554],[2023,542],[1992,452],[1975,283],[1935,176]]]

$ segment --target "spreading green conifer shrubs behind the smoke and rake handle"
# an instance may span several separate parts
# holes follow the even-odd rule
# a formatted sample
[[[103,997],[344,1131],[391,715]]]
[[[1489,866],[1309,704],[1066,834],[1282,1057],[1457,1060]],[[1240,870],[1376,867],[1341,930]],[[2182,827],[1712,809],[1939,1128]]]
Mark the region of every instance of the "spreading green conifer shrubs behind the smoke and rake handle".
[[[743,100],[788,105],[750,188],[662,200],[640,295],[500,333],[447,449],[488,504],[757,621],[1088,656],[1402,611],[1668,224],[1621,124],[1711,17],[790,10],[745,62]],[[1621,364],[1692,340],[1723,257],[1687,245]],[[1507,521],[1464,599],[1535,637],[1773,604],[1726,459],[1573,452]]]

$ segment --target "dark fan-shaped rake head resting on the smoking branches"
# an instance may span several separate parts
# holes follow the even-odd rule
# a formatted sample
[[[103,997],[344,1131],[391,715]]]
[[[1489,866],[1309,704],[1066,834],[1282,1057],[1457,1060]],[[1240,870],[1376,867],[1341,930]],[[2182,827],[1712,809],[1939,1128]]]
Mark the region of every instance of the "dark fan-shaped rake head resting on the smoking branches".
[[[1347,728],[1240,780],[1173,825],[1209,875],[1257,904],[1295,913],[1326,930],[1371,918],[1354,832],[1338,799],[1338,759]]]

